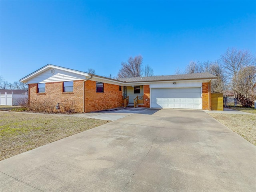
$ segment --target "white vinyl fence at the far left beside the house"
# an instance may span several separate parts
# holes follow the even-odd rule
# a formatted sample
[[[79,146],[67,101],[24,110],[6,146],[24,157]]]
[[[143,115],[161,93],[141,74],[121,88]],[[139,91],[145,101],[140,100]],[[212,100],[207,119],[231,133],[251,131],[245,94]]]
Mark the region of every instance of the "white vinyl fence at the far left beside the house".
[[[0,93],[0,105],[18,105],[21,99],[28,98],[28,94]]]

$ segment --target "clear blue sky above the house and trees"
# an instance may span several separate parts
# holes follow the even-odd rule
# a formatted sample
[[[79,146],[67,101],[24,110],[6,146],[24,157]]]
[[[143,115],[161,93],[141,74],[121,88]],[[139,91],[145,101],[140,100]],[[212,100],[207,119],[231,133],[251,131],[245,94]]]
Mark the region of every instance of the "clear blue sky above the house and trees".
[[[256,1],[0,1],[0,75],[9,82],[46,64],[116,76],[139,54],[168,75],[228,47],[256,53]]]

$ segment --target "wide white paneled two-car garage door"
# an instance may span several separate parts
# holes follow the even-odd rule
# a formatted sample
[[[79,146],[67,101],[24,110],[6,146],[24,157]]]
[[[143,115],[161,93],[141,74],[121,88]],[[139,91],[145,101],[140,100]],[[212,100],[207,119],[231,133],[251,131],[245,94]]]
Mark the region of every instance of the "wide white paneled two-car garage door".
[[[152,108],[202,109],[201,88],[151,89]]]

